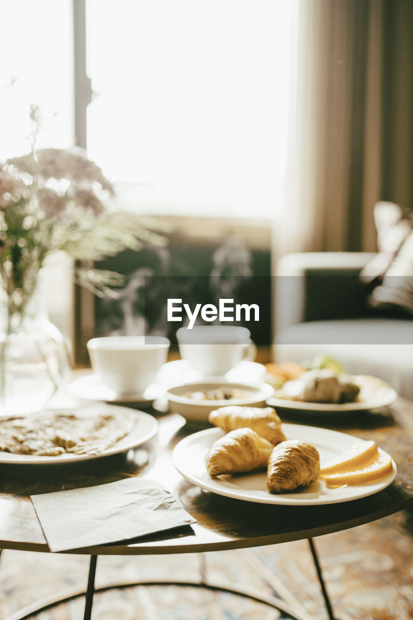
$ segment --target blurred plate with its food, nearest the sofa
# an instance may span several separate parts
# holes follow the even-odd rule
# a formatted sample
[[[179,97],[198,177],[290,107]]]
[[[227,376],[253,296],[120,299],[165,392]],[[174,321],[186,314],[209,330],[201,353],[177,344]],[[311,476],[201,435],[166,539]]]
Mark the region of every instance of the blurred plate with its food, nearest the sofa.
[[[331,358],[326,358],[331,359]],[[378,377],[347,374],[339,363],[307,370],[293,362],[267,365],[274,389],[267,403],[283,409],[349,412],[391,405],[397,392]]]

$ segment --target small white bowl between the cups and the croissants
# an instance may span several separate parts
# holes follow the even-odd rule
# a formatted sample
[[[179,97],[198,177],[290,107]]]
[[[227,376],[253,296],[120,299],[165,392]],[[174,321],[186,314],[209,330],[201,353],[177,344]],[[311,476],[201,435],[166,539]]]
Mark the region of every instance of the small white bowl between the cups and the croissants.
[[[187,392],[200,392],[219,387],[229,387],[249,392],[246,398],[227,399],[220,401],[198,401],[185,396]],[[185,383],[182,386],[170,387],[166,392],[169,410],[184,416],[190,422],[208,422],[208,415],[218,407],[241,405],[246,407],[265,407],[267,399],[273,396],[273,388],[267,383],[228,383],[226,381],[204,381],[203,383]]]

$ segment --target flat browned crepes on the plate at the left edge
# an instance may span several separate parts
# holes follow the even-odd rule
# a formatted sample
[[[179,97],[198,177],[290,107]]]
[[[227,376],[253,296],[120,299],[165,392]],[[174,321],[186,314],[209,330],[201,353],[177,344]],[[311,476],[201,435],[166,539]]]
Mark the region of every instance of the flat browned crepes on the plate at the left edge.
[[[0,422],[0,451],[33,456],[99,454],[127,435],[130,414],[40,412]]]

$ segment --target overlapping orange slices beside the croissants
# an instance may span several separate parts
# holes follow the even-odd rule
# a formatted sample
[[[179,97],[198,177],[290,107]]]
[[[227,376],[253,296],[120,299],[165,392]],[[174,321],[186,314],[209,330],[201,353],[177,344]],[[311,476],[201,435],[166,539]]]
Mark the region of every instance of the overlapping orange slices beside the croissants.
[[[322,466],[320,476],[328,486],[341,486],[380,480],[392,471],[391,456],[375,441],[363,441]]]

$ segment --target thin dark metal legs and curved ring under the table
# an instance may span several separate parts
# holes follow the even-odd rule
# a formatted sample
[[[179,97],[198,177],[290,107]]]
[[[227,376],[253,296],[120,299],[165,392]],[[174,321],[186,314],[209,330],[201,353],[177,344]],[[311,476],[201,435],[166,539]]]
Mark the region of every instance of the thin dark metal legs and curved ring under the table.
[[[318,560],[318,555],[316,552],[316,548],[314,546],[313,539],[309,538],[309,546],[311,550],[311,554],[313,556],[314,565],[316,567],[317,576],[319,579],[319,583],[321,586],[322,595],[324,597],[324,601],[326,603],[326,609],[329,620],[337,620],[334,617],[334,613],[332,611],[331,602],[329,600],[329,596],[327,594],[326,585],[324,583],[324,579],[322,577],[321,567]],[[1,549],[0,549],[1,553]],[[205,560],[203,559],[203,554],[200,554],[201,565],[200,565],[200,579],[199,580],[174,580],[174,581],[164,581],[164,580],[139,580],[139,581],[130,581],[130,582],[121,582],[121,583],[111,583],[110,585],[105,585],[100,588],[95,588],[95,573],[96,573],[96,564],[97,564],[97,556],[91,556],[91,562],[89,566],[89,577],[87,579],[87,589],[78,590],[78,588],[71,588],[71,590],[66,590],[61,593],[57,598],[56,596],[51,596],[47,599],[43,599],[42,601],[38,601],[33,605],[26,606],[23,609],[20,609],[16,613],[12,614],[7,618],[7,620],[27,620],[31,616],[34,616],[41,611],[45,611],[46,609],[50,609],[61,603],[66,603],[68,601],[73,600],[74,598],[79,598],[79,596],[86,596],[85,600],[85,609],[84,609],[84,617],[83,620],[91,620],[92,613],[92,603],[94,594],[97,592],[105,592],[107,590],[115,590],[116,588],[131,588],[138,585],[178,585],[178,586],[190,586],[190,587],[198,587],[198,588],[208,588],[210,590],[218,590],[223,592],[233,593],[239,596],[246,596],[247,598],[251,598],[255,601],[259,601],[260,603],[267,604],[283,613],[288,614],[290,618],[293,620],[311,620],[311,616],[307,614],[304,610],[295,608],[294,604],[287,603],[282,598],[278,598],[278,596],[266,595],[259,590],[254,588],[242,587],[238,588],[233,583],[214,583],[210,580],[207,580],[206,569],[205,569]]]

